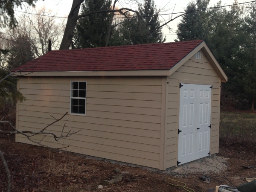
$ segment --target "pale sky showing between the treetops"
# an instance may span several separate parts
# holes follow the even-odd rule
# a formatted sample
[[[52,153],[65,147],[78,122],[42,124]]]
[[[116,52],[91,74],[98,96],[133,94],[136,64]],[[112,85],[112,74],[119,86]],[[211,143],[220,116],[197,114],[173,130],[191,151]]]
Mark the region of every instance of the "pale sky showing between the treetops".
[[[125,0],[119,0],[122,2],[125,2]],[[166,13],[175,13],[175,12],[183,12],[186,5],[191,0],[155,0],[155,3],[158,8],[162,9],[164,7],[164,12],[161,12],[161,14]],[[210,0],[209,6],[214,6],[219,0]],[[244,3],[250,0],[238,0],[238,3]],[[56,12],[57,16],[64,17],[67,16],[70,12],[71,6],[72,6],[73,0],[38,0],[38,2],[35,4],[36,8],[40,8],[42,6],[45,6],[48,9],[52,9],[53,12]],[[128,2],[128,0],[126,1]],[[233,4],[234,0],[222,0],[222,5],[230,5]],[[136,9],[136,5],[134,4],[125,4],[125,3],[119,3],[117,4],[119,7],[126,7],[131,9]],[[19,11],[24,11],[17,9]],[[17,15],[19,15],[19,12],[17,12]],[[175,16],[175,15],[174,15]],[[177,23],[180,22],[180,18],[173,20],[170,22],[169,26],[172,29],[173,32],[177,29]],[[169,15],[165,15],[163,17],[160,17],[161,20],[163,19],[169,19]],[[166,35],[166,42],[173,42],[177,36],[173,33],[169,32],[169,29],[166,27],[163,27],[163,33]]]

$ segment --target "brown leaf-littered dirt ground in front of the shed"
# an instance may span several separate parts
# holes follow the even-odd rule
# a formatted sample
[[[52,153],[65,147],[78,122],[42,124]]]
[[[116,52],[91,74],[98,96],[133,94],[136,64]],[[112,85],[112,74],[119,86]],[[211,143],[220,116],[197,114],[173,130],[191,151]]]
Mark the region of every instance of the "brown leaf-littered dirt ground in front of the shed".
[[[186,192],[182,187],[171,186],[165,178],[186,183],[195,192],[209,192],[220,183],[229,186],[242,184],[241,178],[256,177],[256,169],[244,169],[243,166],[256,166],[256,145],[220,145],[218,156],[228,158],[227,170],[209,175],[207,184],[198,177],[200,172],[166,175],[140,167],[113,164],[104,160],[88,159],[72,153],[49,150],[47,148],[23,143],[15,143],[14,136],[0,135],[0,150],[3,151],[11,170],[13,192]],[[210,165],[209,165],[210,166]],[[102,180],[113,177],[113,169],[129,172],[119,183],[97,189]],[[186,166],[184,166],[186,168]],[[175,174],[169,171],[170,174]],[[169,182],[177,183],[173,180]],[[244,181],[245,183],[245,181]],[[195,188],[194,186],[197,188]],[[6,175],[0,162],[0,191],[6,191]]]

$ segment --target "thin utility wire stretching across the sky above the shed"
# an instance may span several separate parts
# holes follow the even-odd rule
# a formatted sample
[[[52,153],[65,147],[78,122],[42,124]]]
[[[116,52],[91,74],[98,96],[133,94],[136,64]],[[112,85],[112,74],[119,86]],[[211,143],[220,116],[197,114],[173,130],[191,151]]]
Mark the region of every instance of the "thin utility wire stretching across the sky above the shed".
[[[244,2],[244,3],[236,3],[236,4],[230,4],[230,5],[225,5],[225,6],[218,6],[218,7],[207,7],[207,8],[203,8],[203,9],[195,9],[192,12],[196,12],[196,11],[204,11],[204,10],[209,10],[209,9],[218,9],[218,8],[222,8],[222,7],[227,7],[227,6],[235,6],[235,5],[241,5],[241,4],[246,4],[246,3],[253,3],[256,2],[256,0],[254,1],[248,1],[248,2]],[[16,12],[21,12],[21,11],[17,11]],[[21,12],[21,13],[26,13],[26,14],[31,14],[31,15],[41,15],[41,14],[36,14],[36,13],[28,13],[28,12]],[[147,16],[141,16],[141,17],[152,17],[152,16],[160,16],[160,15],[173,15],[173,14],[180,14],[180,13],[186,13],[186,12],[176,12],[176,13],[166,13],[166,14],[155,14],[155,15],[147,15]],[[60,16],[51,16],[51,15],[41,15],[41,16],[46,16],[46,17],[57,17],[57,18],[67,18],[67,17],[60,17]],[[133,15],[127,15],[128,17],[135,17]],[[86,18],[86,17],[85,17]],[[108,17],[97,17],[95,19],[104,19],[104,18],[108,18]],[[126,17],[119,17],[119,18],[126,18]]]

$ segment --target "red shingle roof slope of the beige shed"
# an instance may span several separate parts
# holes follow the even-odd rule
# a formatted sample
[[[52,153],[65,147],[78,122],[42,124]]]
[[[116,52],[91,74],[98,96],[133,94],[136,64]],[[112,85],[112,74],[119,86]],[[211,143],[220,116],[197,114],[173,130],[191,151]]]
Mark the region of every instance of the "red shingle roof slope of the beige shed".
[[[204,40],[58,50],[12,71],[170,70]]]

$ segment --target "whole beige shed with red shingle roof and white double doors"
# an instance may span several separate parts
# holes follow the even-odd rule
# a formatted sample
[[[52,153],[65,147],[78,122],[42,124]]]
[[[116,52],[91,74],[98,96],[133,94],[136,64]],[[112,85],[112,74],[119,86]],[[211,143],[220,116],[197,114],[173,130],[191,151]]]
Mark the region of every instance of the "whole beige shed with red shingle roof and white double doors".
[[[39,130],[66,112],[48,130],[81,129],[44,144],[160,170],[219,151],[227,76],[204,40],[51,51],[19,69],[26,101],[17,104],[18,130]],[[21,134],[16,142],[35,144]]]

